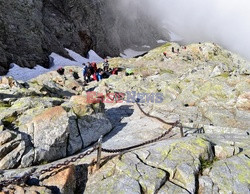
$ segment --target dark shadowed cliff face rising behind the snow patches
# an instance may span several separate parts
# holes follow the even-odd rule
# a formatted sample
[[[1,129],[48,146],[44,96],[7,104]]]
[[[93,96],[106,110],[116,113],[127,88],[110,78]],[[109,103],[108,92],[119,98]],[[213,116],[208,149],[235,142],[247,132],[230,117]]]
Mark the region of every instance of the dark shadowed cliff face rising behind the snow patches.
[[[68,56],[64,48],[86,55],[118,55],[130,44],[153,43],[156,27],[142,15],[136,21],[117,16],[114,0],[0,1],[0,73],[10,63],[49,67],[48,55]],[[133,33],[131,33],[133,31]],[[159,36],[160,38],[160,36]]]

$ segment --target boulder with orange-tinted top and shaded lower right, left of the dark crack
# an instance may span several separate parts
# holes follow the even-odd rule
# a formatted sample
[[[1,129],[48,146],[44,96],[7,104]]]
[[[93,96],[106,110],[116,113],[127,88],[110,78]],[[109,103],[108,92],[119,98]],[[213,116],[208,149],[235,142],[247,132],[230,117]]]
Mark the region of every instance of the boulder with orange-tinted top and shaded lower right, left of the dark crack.
[[[34,163],[53,161],[66,156],[69,118],[60,106],[46,109],[26,124],[35,148]]]

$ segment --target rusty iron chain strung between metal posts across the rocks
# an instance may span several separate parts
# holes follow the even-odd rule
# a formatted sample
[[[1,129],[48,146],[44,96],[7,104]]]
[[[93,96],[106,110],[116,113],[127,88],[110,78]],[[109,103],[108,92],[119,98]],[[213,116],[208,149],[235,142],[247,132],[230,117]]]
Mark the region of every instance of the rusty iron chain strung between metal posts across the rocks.
[[[151,144],[151,143],[155,143],[159,140],[161,140],[163,137],[165,137],[166,135],[168,135],[175,127],[182,127],[181,124],[177,121],[175,123],[167,123],[165,122],[164,120],[158,118],[158,117],[155,117],[155,116],[151,116],[149,115],[148,113],[145,113],[142,108],[139,106],[138,103],[136,103],[137,106],[139,107],[139,109],[141,110],[141,112],[146,115],[147,117],[151,117],[151,118],[154,118],[154,119],[157,119],[159,120],[160,122],[162,123],[165,123],[165,124],[168,124],[168,125],[171,125],[171,128],[169,130],[167,130],[166,132],[164,132],[162,135],[160,135],[159,137],[156,137],[154,139],[151,139],[151,140],[148,140],[148,141],[145,141],[143,143],[140,143],[140,144],[137,144],[137,145],[133,145],[133,146],[129,146],[129,147],[126,147],[126,148],[121,148],[121,149],[106,149],[106,148],[102,148],[101,151],[102,152],[106,152],[106,153],[121,153],[121,152],[125,152],[125,151],[129,151],[129,150],[132,150],[132,149],[135,149],[135,148],[139,148],[139,147],[142,147],[142,146],[145,146],[145,145],[148,145],[148,144]],[[38,175],[43,175],[45,173],[48,173],[48,172],[52,172],[56,169],[60,169],[62,167],[66,167],[68,166],[70,163],[74,163],[76,162],[77,160],[80,160],[82,158],[84,158],[85,156],[87,155],[90,155],[91,153],[93,153],[95,150],[97,150],[98,147],[96,146],[96,144],[93,146],[93,148],[89,151],[86,151],[85,153],[82,153],[82,154],[79,154],[69,160],[65,160],[63,163],[58,163],[54,166],[50,166],[49,168],[47,169],[43,169],[39,172],[37,172],[36,174]],[[5,181],[2,181],[0,182],[0,191],[3,187],[6,187],[8,185],[11,185],[11,184],[22,184],[22,183],[25,183],[32,175],[34,175],[34,171],[35,169],[33,169],[33,171],[29,172],[29,173],[26,173],[24,174],[23,176],[21,177],[15,177],[13,179],[10,179],[10,180],[5,180]]]

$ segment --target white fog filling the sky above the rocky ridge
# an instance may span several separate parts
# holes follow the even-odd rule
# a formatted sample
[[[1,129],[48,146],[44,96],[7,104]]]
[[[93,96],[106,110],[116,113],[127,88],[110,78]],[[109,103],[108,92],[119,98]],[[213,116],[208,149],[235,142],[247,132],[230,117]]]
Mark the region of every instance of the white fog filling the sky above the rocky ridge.
[[[116,0],[128,19],[143,12],[183,43],[215,42],[250,60],[249,0]]]

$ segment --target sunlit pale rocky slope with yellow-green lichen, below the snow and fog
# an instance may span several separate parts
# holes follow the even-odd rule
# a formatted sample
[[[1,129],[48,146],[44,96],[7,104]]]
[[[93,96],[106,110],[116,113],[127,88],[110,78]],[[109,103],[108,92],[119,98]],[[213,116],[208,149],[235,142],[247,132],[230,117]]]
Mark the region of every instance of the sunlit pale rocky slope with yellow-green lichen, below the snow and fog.
[[[67,67],[65,76],[53,71],[29,82],[1,80],[0,182],[34,173],[22,187],[3,192],[249,193],[249,62],[212,43],[185,49],[168,43],[110,64],[132,68],[134,75],[120,72],[83,86],[82,69]],[[91,102],[90,91],[96,92]],[[126,94],[125,100],[107,98],[114,92]],[[146,116],[132,92],[139,107],[159,119]],[[176,121],[184,137],[175,127],[137,149],[103,152],[98,171],[93,152],[67,168],[39,173],[86,153],[101,135],[104,148],[120,149],[154,139],[170,128],[166,122]]]

